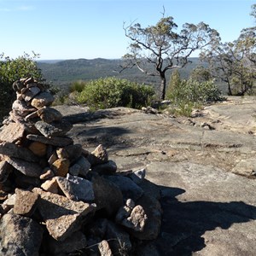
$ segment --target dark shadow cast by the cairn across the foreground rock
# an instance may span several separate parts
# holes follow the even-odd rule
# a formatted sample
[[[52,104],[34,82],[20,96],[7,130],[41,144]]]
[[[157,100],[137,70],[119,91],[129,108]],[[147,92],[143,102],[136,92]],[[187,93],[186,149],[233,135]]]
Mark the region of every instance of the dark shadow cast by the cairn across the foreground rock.
[[[156,247],[160,255],[192,255],[206,247],[203,237],[208,230],[227,230],[232,224],[256,219],[256,207],[242,201],[177,201],[185,190],[160,187],[163,217]]]

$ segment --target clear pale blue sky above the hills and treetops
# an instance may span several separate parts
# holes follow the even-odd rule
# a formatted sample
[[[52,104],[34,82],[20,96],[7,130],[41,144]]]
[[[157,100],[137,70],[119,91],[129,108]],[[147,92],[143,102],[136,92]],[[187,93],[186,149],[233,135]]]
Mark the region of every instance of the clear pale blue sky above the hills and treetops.
[[[120,58],[128,38],[123,22],[143,27],[166,15],[178,28],[204,21],[224,42],[254,26],[250,16],[256,0],[0,0],[0,53],[12,58],[32,50],[41,60]]]

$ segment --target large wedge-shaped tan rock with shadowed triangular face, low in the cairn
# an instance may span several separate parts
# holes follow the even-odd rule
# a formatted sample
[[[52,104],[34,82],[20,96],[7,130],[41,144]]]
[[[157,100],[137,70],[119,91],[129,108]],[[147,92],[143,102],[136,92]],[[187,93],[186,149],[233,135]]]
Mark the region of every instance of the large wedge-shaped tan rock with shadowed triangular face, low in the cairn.
[[[44,192],[42,189],[34,188],[32,192],[40,195],[38,210],[49,235],[58,241],[64,241],[79,230],[86,218],[90,218],[90,213],[96,209],[94,204],[71,201],[65,196]]]

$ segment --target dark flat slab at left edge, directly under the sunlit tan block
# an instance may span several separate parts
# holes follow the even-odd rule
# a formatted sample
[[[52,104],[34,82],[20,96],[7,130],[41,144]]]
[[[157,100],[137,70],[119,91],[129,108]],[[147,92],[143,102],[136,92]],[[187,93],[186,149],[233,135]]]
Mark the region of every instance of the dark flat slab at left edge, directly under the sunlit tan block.
[[[20,160],[38,161],[38,157],[31,150],[17,146],[14,143],[0,143],[0,154],[19,158]]]

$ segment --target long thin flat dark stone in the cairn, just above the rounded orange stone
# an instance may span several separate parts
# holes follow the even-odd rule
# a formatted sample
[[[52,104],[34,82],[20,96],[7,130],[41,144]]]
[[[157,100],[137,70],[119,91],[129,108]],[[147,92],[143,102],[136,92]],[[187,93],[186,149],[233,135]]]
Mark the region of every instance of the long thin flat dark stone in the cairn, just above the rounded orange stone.
[[[44,143],[48,145],[53,145],[56,147],[65,147],[67,145],[73,144],[73,139],[70,137],[51,137],[47,138],[40,135],[28,134],[26,136],[27,139],[32,140],[34,142]]]

